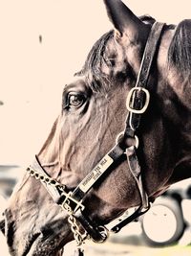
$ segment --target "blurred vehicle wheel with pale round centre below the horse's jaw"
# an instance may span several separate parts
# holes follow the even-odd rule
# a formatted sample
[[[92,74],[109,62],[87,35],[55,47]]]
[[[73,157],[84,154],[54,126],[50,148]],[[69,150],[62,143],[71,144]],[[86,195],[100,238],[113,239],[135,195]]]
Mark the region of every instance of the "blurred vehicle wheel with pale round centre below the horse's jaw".
[[[164,246],[176,243],[184,231],[180,203],[174,198],[156,199],[142,217],[141,227],[146,244]]]

